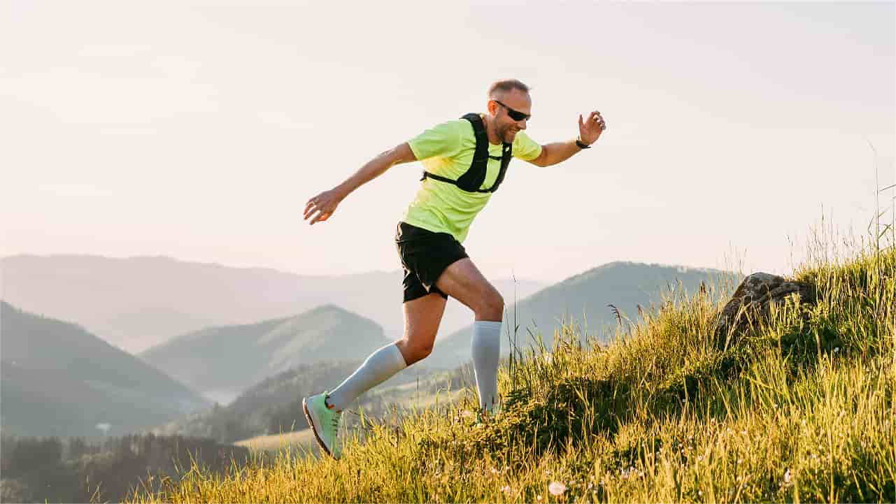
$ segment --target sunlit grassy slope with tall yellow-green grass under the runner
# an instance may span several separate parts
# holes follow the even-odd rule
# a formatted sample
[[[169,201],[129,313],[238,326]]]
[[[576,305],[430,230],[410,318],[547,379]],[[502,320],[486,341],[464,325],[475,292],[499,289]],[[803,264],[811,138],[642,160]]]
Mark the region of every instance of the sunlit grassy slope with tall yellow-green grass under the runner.
[[[340,460],[194,467],[128,500],[896,500],[896,252],[825,255],[793,273],[814,303],[728,342],[727,296],[676,293],[608,346],[562,331],[504,364],[494,421],[473,426],[470,402],[409,413],[353,433]]]

